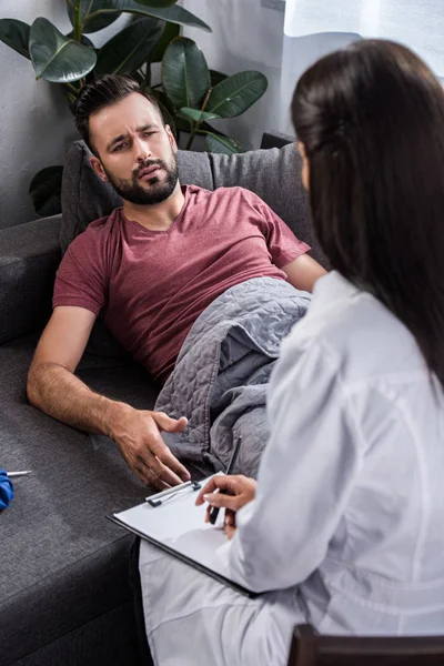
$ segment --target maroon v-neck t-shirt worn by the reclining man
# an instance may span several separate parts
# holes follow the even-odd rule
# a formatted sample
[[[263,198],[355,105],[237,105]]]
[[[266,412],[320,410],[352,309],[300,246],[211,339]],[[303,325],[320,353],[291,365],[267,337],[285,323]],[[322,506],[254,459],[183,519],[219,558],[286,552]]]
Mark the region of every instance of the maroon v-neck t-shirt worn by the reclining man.
[[[103,321],[154,379],[165,381],[203,310],[252,278],[286,280],[282,266],[307,250],[259,196],[242,188],[183,188],[167,231],[122,209],[92,222],[69,246],[53,306],[75,305]]]

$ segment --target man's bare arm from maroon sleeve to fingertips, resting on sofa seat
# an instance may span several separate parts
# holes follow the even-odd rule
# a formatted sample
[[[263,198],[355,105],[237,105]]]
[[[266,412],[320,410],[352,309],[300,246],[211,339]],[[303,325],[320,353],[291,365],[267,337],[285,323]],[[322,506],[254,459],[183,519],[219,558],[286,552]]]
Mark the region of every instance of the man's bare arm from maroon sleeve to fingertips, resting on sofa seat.
[[[160,488],[190,478],[160,431],[178,432],[186,420],[134,410],[91,391],[73,373],[87,346],[95,315],[83,307],[56,307],[40,339],[28,375],[29,402],[79,430],[108,435],[129,467]]]

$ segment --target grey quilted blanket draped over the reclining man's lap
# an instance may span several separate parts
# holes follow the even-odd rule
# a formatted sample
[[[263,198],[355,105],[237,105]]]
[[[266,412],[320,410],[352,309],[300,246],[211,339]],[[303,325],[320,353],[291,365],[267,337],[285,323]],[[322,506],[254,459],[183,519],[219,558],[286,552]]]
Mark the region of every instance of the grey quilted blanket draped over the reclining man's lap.
[[[281,341],[306,312],[310,294],[258,278],[219,296],[196,320],[155,410],[188,416],[183,433],[164,435],[181,460],[225,470],[242,436],[235,473],[255,477],[268,442],[265,397]]]

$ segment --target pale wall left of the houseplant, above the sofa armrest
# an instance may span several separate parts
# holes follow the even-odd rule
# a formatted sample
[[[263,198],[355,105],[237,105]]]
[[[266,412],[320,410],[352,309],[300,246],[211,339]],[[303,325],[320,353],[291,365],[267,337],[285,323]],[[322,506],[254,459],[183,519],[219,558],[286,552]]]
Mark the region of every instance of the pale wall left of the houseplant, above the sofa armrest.
[[[68,33],[71,24],[64,0],[1,0],[0,18],[32,23],[37,17],[52,21]],[[99,34],[109,39],[128,17],[121,17]],[[36,81],[29,60],[0,42],[0,229],[36,218],[29,184],[37,171],[62,164],[70,142],[78,138],[60,89]]]

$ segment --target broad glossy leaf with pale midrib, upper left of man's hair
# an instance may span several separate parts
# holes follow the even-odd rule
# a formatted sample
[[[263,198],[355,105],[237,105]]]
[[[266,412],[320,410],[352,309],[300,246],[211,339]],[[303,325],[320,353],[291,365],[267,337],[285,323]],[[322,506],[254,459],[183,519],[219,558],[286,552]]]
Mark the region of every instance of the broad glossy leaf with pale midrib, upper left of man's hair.
[[[47,19],[36,19],[29,34],[29,52],[38,79],[53,83],[78,81],[95,64],[95,52],[64,37]]]

